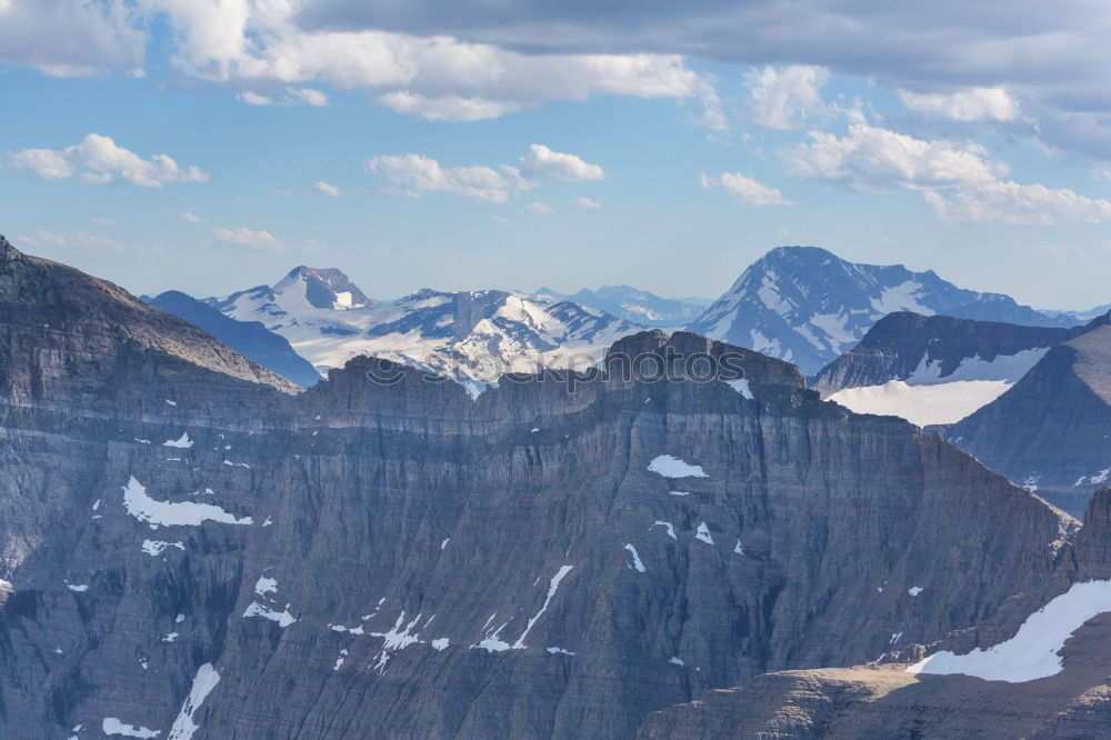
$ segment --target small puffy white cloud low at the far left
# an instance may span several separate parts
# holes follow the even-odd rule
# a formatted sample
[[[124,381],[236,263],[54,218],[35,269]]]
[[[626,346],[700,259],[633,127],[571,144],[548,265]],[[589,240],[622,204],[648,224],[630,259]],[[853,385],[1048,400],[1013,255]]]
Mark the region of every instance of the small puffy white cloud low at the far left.
[[[64,180],[77,174],[86,184],[104,184],[117,178],[142,188],[167,182],[208,182],[196,166],[179,167],[166,154],[143,159],[118,146],[110,137],[90,133],[79,144],[64,149],[22,149],[10,153],[17,169],[31,170],[44,180]]]

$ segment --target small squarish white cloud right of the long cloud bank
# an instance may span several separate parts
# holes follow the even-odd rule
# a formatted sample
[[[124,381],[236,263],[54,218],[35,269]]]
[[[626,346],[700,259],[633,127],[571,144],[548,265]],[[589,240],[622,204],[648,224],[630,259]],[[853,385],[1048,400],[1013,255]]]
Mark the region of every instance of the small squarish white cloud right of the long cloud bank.
[[[825,112],[821,89],[829,78],[828,69],[809,64],[753,69],[744,76],[749,118],[768,129],[800,128]]]

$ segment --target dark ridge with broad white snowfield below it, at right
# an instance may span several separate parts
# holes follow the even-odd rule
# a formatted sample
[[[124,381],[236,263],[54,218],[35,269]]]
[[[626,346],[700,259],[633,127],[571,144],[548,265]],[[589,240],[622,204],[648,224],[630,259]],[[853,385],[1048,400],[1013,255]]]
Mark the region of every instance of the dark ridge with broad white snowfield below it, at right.
[[[1005,393],[1050,347],[1083,331],[890,313],[810,386],[860,413],[953,423]]]

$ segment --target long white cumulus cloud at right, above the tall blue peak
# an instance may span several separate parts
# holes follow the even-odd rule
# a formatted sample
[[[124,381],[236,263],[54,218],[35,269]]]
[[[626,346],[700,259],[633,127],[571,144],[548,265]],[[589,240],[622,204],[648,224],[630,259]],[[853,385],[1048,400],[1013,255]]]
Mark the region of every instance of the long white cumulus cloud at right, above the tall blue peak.
[[[794,174],[861,192],[922,193],[940,218],[962,223],[1051,224],[1111,219],[1111,201],[1065,188],[1003,180],[1007,167],[973,142],[917,139],[854,123],[843,137],[812,132],[782,152]]]

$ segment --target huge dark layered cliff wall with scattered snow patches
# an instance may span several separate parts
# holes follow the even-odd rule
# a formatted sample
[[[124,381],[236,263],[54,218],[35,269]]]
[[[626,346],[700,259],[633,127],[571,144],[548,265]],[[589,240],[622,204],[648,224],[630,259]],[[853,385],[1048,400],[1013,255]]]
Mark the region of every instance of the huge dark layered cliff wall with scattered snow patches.
[[[744,383],[472,400],[356,359],[290,394],[2,257],[0,734],[628,737],[990,620],[1071,551],[1069,517],[752,352]],[[611,357],[735,351],[654,332]]]

